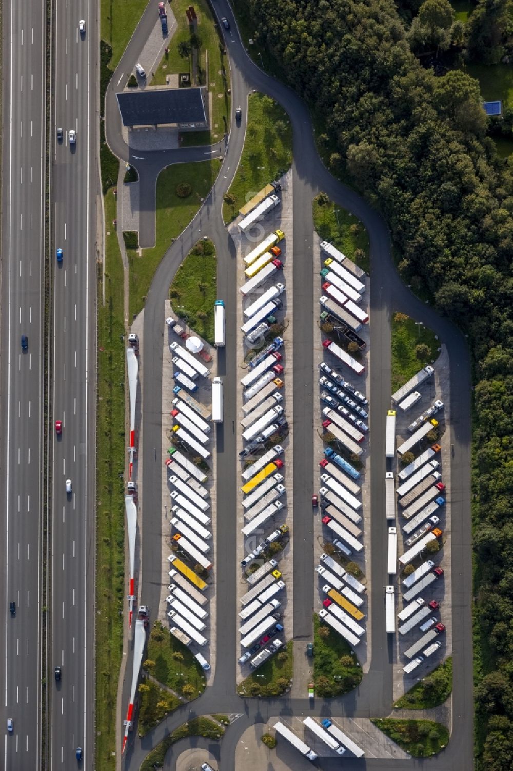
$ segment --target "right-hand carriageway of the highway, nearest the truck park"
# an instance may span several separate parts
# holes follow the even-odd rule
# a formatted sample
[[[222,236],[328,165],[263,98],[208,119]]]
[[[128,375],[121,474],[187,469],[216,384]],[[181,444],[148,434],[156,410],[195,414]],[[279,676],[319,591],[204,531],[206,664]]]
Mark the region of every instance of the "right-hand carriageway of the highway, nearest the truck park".
[[[94,7],[94,5],[93,5]],[[86,22],[84,33],[79,21]],[[96,356],[96,17],[62,0],[54,16],[50,335],[50,745],[52,769],[94,752],[94,372]],[[55,131],[62,128],[62,141]],[[69,143],[69,130],[76,132]],[[62,262],[55,249],[62,248]],[[62,434],[55,431],[62,421]],[[66,493],[66,480],[72,492]],[[60,682],[55,667],[61,668]]]

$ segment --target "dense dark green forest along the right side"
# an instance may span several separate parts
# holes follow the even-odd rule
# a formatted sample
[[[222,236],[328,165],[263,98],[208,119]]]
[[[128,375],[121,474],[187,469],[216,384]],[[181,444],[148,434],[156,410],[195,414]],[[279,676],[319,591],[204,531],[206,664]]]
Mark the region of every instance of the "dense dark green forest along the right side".
[[[510,771],[513,165],[488,136],[478,82],[450,62],[507,59],[511,5],[481,0],[465,25],[447,0],[248,2],[290,86],[326,116],[331,169],[384,214],[404,280],[471,339],[478,752]],[[430,52],[448,66],[428,66]]]

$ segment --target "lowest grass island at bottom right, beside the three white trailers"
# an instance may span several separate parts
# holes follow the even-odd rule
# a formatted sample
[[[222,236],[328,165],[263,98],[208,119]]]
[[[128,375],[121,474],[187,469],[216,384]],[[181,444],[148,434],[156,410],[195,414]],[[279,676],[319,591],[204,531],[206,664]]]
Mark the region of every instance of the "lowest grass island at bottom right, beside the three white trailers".
[[[436,755],[449,741],[448,729],[434,720],[371,718],[371,722],[414,758]]]

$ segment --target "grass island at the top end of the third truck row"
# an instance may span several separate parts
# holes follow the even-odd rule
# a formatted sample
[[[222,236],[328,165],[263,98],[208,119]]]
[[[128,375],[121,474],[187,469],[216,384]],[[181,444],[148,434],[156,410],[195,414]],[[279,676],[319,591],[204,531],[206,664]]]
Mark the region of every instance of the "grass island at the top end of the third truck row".
[[[324,205],[320,205],[322,201],[325,201]],[[369,236],[360,220],[334,204],[324,193],[314,198],[312,211],[314,227],[320,238],[330,241],[347,258],[369,273]]]

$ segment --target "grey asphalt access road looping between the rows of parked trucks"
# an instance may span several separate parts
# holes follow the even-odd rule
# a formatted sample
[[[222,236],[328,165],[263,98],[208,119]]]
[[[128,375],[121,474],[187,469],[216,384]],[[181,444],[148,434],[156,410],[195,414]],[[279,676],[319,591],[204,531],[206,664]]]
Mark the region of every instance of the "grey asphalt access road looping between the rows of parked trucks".
[[[304,574],[312,575],[313,566],[312,539],[310,535],[311,504],[310,493],[313,490],[312,463],[312,426],[314,388],[313,351],[311,332],[311,281],[313,280],[314,262],[312,254],[313,224],[311,221],[311,200],[319,190],[325,190],[337,204],[353,212],[367,227],[371,237],[371,419],[376,416],[371,433],[371,508],[375,513],[371,530],[372,550],[372,589],[374,597],[383,596],[383,586],[387,581],[383,561],[385,534],[383,510],[384,500],[384,415],[390,407],[391,365],[390,365],[390,322],[391,313],[401,309],[414,316],[425,325],[433,328],[448,347],[451,359],[451,442],[454,443],[454,459],[451,466],[451,510],[452,510],[452,546],[451,571],[452,608],[453,608],[453,722],[452,736],[448,749],[436,759],[431,759],[430,766],[437,771],[472,767],[472,651],[471,651],[471,520],[470,520],[470,365],[468,349],[464,338],[451,322],[441,318],[428,305],[424,305],[401,282],[391,259],[390,237],[386,224],[354,190],[334,180],[326,170],[317,154],[314,144],[313,128],[307,106],[283,83],[265,75],[248,58],[239,35],[230,6],[226,0],[216,3],[219,16],[226,15],[230,20],[232,32],[228,33],[226,45],[230,52],[232,72],[233,104],[246,104],[246,94],[250,89],[257,89],[277,99],[290,116],[293,126],[293,242],[294,242],[294,360],[301,362],[300,369],[294,370],[295,405],[303,405],[303,412],[294,414],[294,511],[293,532],[297,543],[305,539],[305,547],[300,555]],[[145,12],[146,15],[146,12]],[[144,17],[143,17],[144,19]],[[137,45],[136,45],[137,41]],[[142,48],[139,28],[132,38],[132,44]],[[135,59],[134,59],[135,60]],[[116,76],[113,79],[116,82]],[[117,106],[116,106],[117,109]],[[144,316],[144,340],[142,352],[143,377],[145,382],[142,422],[144,426],[142,452],[145,463],[143,469],[142,522],[146,534],[151,537],[142,539],[142,587],[141,597],[152,609],[159,602],[159,584],[161,569],[153,564],[153,554],[157,547],[156,540],[161,532],[161,473],[162,460],[151,461],[153,448],[160,446],[162,436],[162,346],[149,341],[158,341],[163,335],[164,301],[170,282],[173,280],[179,264],[189,248],[203,236],[209,236],[216,244],[219,255],[218,287],[220,297],[226,301],[226,348],[219,359],[219,372],[224,377],[225,416],[222,426],[217,427],[217,476],[222,481],[222,490],[218,490],[218,500],[223,500],[223,507],[217,512],[216,540],[216,582],[217,597],[221,600],[216,607],[217,655],[213,683],[203,696],[191,705],[182,707],[170,715],[163,723],[139,740],[134,732],[126,750],[125,767],[139,769],[142,759],[153,746],[167,736],[169,731],[179,726],[189,715],[208,714],[209,712],[242,713],[242,716],[230,726],[220,744],[220,766],[223,771],[234,769],[234,749],[236,741],[247,727],[256,722],[265,722],[273,715],[354,715],[371,717],[387,715],[391,712],[391,652],[384,635],[384,607],[380,601],[372,603],[372,649],[371,671],[364,677],[357,692],[352,692],[342,699],[326,702],[316,701],[310,707],[307,699],[240,699],[235,694],[235,662],[237,655],[236,636],[236,600],[235,581],[239,574],[233,555],[236,549],[236,533],[233,527],[236,513],[236,450],[233,422],[236,393],[236,343],[235,343],[235,271],[232,261],[235,257],[233,242],[223,225],[221,207],[223,194],[230,186],[233,173],[243,147],[243,127],[237,128],[232,122],[230,143],[226,150],[223,165],[216,183],[206,198],[202,209],[189,227],[169,248],[156,271],[149,294],[146,298]],[[112,137],[107,131],[109,143]],[[111,144],[111,146],[113,146]],[[197,149],[196,149],[197,150]],[[178,153],[180,151],[177,151]],[[183,155],[179,154],[179,160]],[[152,161],[156,166],[157,158]],[[162,154],[162,167],[169,164],[169,155]],[[142,179],[146,173],[144,165],[134,163]],[[222,492],[222,496],[221,496]],[[298,551],[298,550],[297,550]],[[299,560],[299,555],[297,555]],[[294,571],[298,569],[294,564]],[[314,607],[313,586],[296,596],[295,605],[299,605],[299,596],[303,613],[295,611],[293,619],[294,637],[302,636],[311,621]],[[154,611],[155,612],[155,611]],[[229,630],[229,631],[226,631]],[[230,631],[230,630],[233,630]],[[383,630],[380,633],[380,630]],[[128,668],[129,669],[129,668]],[[294,756],[294,767],[299,768],[300,758]],[[323,768],[334,767],[335,760],[322,759]],[[173,750],[169,752],[166,766],[174,767]],[[348,769],[360,768],[357,761],[347,759],[344,766]],[[372,769],[413,769],[421,766],[414,760],[389,761],[369,760],[367,766]]]

